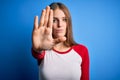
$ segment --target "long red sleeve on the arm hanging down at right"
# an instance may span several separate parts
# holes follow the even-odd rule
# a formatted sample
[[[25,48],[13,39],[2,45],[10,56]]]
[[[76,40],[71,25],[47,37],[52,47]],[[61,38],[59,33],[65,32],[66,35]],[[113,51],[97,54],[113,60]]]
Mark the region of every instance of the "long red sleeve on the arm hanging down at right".
[[[82,57],[81,66],[81,79],[80,80],[89,80],[89,54],[88,49],[84,45],[75,46],[75,51]]]

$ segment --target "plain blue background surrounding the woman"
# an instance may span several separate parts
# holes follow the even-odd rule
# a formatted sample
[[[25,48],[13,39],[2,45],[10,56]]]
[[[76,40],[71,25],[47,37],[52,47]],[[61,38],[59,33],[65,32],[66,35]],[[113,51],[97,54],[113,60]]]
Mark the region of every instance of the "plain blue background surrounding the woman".
[[[0,80],[38,80],[31,55],[34,16],[55,0],[0,0]],[[91,80],[120,80],[120,1],[56,0],[70,10],[76,42],[87,46]]]

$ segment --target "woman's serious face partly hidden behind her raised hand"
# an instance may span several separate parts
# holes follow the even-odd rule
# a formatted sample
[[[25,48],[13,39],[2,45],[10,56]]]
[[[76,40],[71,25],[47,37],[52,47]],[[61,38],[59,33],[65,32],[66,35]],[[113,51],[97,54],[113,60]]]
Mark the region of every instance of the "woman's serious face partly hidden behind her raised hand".
[[[66,34],[67,19],[64,12],[60,9],[53,11],[53,36],[63,37]]]

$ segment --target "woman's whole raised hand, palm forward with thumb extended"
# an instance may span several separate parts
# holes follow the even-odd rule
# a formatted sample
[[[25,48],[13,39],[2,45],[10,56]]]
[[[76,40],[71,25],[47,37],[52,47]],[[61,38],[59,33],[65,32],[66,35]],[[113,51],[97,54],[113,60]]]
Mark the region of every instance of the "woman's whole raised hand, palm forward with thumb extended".
[[[38,16],[34,19],[34,29],[32,32],[32,47],[35,50],[52,49],[52,47],[66,40],[65,37],[53,39],[52,37],[53,25],[53,10],[49,6],[43,9],[40,22],[38,23]]]

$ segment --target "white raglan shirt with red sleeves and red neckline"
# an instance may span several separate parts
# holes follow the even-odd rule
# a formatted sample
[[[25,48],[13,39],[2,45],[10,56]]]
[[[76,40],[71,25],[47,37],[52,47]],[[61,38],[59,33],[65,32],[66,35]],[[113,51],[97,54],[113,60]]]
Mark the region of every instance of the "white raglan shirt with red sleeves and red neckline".
[[[76,45],[65,52],[59,52],[55,49],[46,50],[38,54],[39,58],[41,57],[40,59],[37,58],[41,61],[39,65],[40,80],[82,80],[82,62],[84,58],[86,60],[88,58],[85,46]],[[87,68],[89,66],[88,63],[89,59],[85,64]]]

